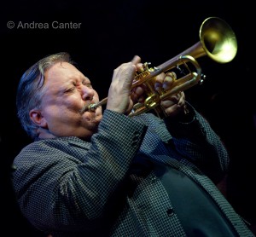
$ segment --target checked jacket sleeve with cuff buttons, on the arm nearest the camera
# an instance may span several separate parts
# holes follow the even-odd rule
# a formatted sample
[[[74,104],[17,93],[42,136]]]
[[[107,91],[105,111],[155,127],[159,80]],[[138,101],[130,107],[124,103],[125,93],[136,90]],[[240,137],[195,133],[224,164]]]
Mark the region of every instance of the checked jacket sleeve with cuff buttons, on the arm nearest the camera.
[[[146,130],[106,110],[90,143],[57,138],[25,147],[15,158],[13,174],[24,216],[36,228],[56,232],[104,226],[104,212],[117,205],[113,197],[123,192],[122,182]]]

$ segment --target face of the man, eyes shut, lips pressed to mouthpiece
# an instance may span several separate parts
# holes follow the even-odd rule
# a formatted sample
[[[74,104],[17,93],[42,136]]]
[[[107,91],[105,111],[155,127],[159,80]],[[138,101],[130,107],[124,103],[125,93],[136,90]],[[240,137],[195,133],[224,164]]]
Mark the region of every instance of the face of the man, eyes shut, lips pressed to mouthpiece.
[[[53,136],[78,136],[90,139],[102,119],[102,107],[81,113],[99,97],[89,78],[67,62],[58,62],[45,72],[42,107],[44,129]]]

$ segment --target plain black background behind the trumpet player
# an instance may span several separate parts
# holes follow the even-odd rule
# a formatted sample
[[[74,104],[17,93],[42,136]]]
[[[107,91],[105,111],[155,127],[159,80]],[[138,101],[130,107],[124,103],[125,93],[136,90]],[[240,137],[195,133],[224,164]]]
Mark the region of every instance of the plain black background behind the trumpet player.
[[[198,59],[204,84],[186,91],[230,152],[222,191],[237,212],[255,224],[255,55],[253,3],[242,1],[9,1],[1,19],[1,228],[4,236],[40,236],[20,215],[9,177],[15,155],[30,139],[16,119],[15,93],[23,72],[45,55],[66,51],[90,78],[102,98],[113,69],[134,55],[158,66],[198,42],[203,20],[218,16],[236,33],[236,58],[219,64]],[[15,27],[9,29],[9,20]],[[79,29],[53,29],[53,21],[81,23]],[[25,29],[19,23],[49,28]],[[254,66],[255,67],[255,66]],[[94,83],[95,82],[95,83]]]

